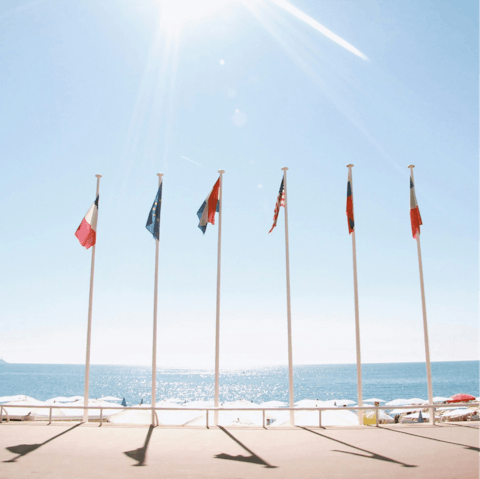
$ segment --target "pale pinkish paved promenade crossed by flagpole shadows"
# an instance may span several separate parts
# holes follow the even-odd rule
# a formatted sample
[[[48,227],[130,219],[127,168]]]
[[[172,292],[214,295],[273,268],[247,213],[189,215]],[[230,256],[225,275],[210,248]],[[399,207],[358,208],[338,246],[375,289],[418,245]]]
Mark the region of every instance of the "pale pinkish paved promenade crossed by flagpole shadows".
[[[0,425],[0,478],[478,479],[477,423],[349,428]]]

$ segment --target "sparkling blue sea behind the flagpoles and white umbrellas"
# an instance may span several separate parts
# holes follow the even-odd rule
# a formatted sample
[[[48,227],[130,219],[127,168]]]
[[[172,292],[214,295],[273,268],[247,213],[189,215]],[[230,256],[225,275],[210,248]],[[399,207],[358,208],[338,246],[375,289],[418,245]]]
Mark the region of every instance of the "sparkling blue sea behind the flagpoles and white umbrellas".
[[[83,365],[0,364],[0,397],[25,394],[45,401],[57,396],[83,396]],[[363,398],[427,399],[424,363],[362,365]],[[433,395],[457,393],[480,396],[480,361],[432,363]],[[354,364],[294,367],[295,401],[301,399],[357,400]],[[210,370],[158,369],[157,401],[208,401],[214,396]],[[143,366],[92,365],[90,398],[125,397],[128,405],[150,403],[151,368]],[[220,401],[245,399],[254,403],[288,401],[286,366],[227,370],[220,373]]]

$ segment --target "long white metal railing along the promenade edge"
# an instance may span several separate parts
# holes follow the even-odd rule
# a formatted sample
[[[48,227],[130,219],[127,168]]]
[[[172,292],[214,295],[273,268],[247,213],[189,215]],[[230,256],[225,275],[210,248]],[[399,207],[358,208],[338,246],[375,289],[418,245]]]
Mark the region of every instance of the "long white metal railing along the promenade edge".
[[[468,403],[455,403],[455,406],[452,407],[463,407],[463,406],[480,406],[480,402],[468,402]],[[6,415],[6,420],[7,422],[10,422],[10,417],[8,414],[8,411],[6,410],[7,408],[32,408],[32,409],[49,409],[49,418],[48,418],[48,424],[52,423],[52,411],[53,409],[62,409],[63,411],[68,410],[68,409],[73,409],[73,410],[78,410],[78,409],[95,409],[95,410],[100,410],[100,426],[103,424],[103,411],[104,410],[118,410],[118,411],[151,411],[152,409],[155,411],[155,419],[156,419],[156,424],[155,426],[160,426],[160,422],[158,420],[158,411],[205,411],[205,423],[207,429],[210,429],[209,425],[209,412],[210,411],[262,411],[262,426],[263,428],[267,428],[267,423],[266,423],[266,418],[265,418],[265,413],[266,411],[276,411],[276,412],[281,412],[281,411],[318,411],[318,427],[322,427],[322,411],[365,411],[365,410],[373,410],[375,411],[375,425],[378,427],[379,424],[379,417],[378,417],[378,412],[379,410],[391,410],[391,409],[428,409],[429,416],[430,418],[435,417],[435,409],[437,408],[442,408],[442,407],[449,407],[447,404],[409,404],[405,406],[395,406],[392,408],[392,406],[354,406],[354,407],[347,407],[347,406],[333,406],[333,407],[294,407],[294,408],[289,408],[289,407],[280,407],[280,408],[262,408],[262,407],[252,407],[252,408],[227,408],[227,407],[138,407],[138,406],[132,406],[132,407],[123,407],[123,406],[54,406],[54,405],[26,405],[26,404],[8,404],[8,405],[0,405],[0,424],[3,422],[3,414],[5,413]],[[57,420],[68,420],[69,416],[61,416],[57,417]],[[81,421],[83,422],[83,421]],[[434,422],[432,423],[434,424]],[[170,427],[171,425],[168,425]]]

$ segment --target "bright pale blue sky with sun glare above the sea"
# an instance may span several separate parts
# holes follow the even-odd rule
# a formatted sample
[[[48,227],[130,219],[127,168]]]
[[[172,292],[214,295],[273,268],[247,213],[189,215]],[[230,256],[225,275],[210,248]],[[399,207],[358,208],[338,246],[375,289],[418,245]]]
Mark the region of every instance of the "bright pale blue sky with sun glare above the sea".
[[[158,366],[213,368],[222,168],[220,364],[286,364],[288,166],[294,363],[355,362],[347,163],[362,360],[425,358],[411,163],[431,359],[479,358],[477,2],[5,0],[0,32],[5,360],[84,362],[100,173],[92,363],[150,363],[162,172]]]

